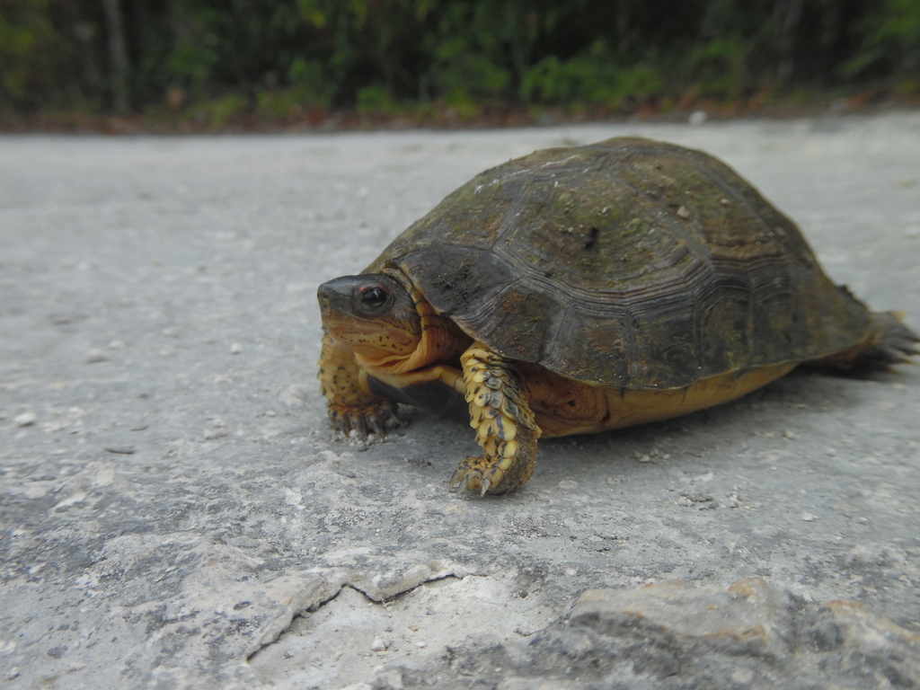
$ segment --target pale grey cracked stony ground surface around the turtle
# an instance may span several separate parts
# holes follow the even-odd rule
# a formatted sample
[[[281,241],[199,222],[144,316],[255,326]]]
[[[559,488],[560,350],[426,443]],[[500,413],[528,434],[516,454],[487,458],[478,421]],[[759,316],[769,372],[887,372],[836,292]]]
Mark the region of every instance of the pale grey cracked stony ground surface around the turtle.
[[[0,138],[0,687],[920,683],[915,367],[544,442],[486,499],[447,492],[463,424],[328,431],[316,285],[618,134],[719,155],[920,327],[918,113]]]

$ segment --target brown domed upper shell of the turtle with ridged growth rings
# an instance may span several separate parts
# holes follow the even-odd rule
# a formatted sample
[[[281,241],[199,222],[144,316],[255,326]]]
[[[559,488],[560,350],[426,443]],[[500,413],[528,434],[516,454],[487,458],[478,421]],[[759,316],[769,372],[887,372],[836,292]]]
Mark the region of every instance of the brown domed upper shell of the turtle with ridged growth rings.
[[[489,348],[592,385],[680,387],[868,332],[865,305],[751,184],[638,138],[481,173],[365,272],[385,267]]]

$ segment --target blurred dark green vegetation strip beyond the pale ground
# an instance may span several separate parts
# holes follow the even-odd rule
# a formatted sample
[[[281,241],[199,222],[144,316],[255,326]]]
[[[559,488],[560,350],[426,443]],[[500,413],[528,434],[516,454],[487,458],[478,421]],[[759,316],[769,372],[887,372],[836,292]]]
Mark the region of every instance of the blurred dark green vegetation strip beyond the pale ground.
[[[920,90],[920,0],[0,0],[0,111],[601,105]]]

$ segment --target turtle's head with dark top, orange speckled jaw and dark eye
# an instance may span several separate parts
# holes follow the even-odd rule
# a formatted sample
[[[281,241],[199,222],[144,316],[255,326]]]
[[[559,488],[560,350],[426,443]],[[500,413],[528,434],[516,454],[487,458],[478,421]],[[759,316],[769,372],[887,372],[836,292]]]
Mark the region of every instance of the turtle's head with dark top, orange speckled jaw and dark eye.
[[[324,282],[316,291],[323,328],[339,345],[379,360],[408,355],[421,341],[415,301],[384,273],[348,275]]]

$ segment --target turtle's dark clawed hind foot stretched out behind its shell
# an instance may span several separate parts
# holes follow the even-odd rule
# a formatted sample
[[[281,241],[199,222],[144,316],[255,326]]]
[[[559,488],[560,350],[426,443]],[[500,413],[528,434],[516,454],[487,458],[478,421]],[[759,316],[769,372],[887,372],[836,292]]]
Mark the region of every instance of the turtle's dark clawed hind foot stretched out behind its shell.
[[[920,336],[903,324],[903,312],[872,312],[868,335],[856,347],[825,357],[838,369],[885,369],[891,364],[913,363],[920,354]]]

